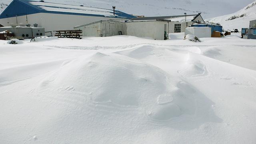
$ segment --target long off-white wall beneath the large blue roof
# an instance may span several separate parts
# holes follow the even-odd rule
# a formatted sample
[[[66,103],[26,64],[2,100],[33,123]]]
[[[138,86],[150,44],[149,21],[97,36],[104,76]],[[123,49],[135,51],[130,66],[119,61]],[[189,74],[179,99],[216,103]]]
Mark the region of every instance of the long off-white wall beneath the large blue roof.
[[[99,20],[118,19],[97,16],[78,16],[49,13],[29,14],[27,16],[29,24],[33,25],[34,23],[37,23],[38,27],[44,27],[45,31],[73,30],[74,26],[79,26],[82,24],[88,24]],[[17,18],[18,23],[26,23],[26,16],[18,16]],[[16,17],[0,19],[0,24],[4,26],[9,26],[10,23],[16,24]]]

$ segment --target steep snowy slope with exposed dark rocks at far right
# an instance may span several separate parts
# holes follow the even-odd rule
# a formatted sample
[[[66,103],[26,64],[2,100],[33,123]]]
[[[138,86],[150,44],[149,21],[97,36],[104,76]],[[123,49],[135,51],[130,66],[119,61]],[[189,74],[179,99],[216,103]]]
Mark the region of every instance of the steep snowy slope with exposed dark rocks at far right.
[[[233,14],[207,19],[209,22],[220,23],[225,30],[248,28],[250,20],[256,20],[256,0]]]

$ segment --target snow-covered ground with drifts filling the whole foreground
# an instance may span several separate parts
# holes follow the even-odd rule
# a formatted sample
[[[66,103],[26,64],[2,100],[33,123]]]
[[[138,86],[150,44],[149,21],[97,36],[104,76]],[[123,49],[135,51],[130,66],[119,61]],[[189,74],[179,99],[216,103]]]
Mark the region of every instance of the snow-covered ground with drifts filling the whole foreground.
[[[0,40],[0,143],[255,144],[255,40],[183,37]]]

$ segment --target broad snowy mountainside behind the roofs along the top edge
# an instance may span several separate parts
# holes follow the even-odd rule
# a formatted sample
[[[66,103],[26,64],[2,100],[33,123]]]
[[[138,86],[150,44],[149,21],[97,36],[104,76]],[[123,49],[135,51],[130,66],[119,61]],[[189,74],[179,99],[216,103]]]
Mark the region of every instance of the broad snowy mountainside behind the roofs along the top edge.
[[[0,0],[0,13],[10,4],[12,0]],[[129,14],[144,16],[167,16],[196,14],[202,12],[204,18],[222,16],[230,14],[242,8],[241,4],[249,4],[252,0],[232,0],[226,2],[223,0],[214,0],[205,2],[204,0],[45,0],[46,2],[84,5],[99,8],[121,10]]]

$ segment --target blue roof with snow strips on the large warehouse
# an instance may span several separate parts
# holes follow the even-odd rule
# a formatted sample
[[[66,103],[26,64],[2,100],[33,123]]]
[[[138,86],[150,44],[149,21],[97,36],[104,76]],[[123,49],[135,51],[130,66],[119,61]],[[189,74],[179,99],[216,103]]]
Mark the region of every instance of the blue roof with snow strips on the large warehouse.
[[[2,14],[0,15],[0,19],[36,13],[70,14],[111,18],[135,18],[135,16],[120,12],[118,10],[115,10],[114,16],[113,10],[104,8],[92,8],[86,6],[57,4],[32,0],[13,0],[10,5],[4,10],[4,12],[2,12]]]

